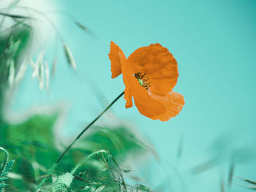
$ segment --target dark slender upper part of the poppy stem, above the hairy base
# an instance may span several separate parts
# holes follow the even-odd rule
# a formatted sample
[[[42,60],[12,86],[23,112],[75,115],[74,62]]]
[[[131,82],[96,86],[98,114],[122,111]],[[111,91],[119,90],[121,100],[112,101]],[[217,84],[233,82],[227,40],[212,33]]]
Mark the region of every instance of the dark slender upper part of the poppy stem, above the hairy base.
[[[98,116],[97,118],[95,118],[93,121],[91,121],[91,123],[86,126],[86,128],[83,128],[83,131],[80,132],[80,134],[78,134],[78,137],[75,138],[75,140],[66,148],[66,150],[64,150],[64,152],[59,156],[58,160],[56,161],[56,164],[59,164],[59,162],[61,161],[61,159],[63,158],[63,156],[67,153],[67,151],[75,144],[75,142],[83,135],[83,133],[90,128],[106,111],[108,111],[108,109],[114,104],[116,103],[116,101],[124,95],[124,91],[118,95],[116,97],[116,99],[114,99],[109,105],[108,107],[106,107],[105,110],[103,110]]]

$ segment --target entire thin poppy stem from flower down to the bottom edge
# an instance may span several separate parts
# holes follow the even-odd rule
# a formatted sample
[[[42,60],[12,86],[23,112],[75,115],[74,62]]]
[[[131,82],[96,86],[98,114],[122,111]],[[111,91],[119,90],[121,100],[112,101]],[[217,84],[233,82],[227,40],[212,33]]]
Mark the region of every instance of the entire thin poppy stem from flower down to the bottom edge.
[[[105,108],[105,110],[103,110],[98,116],[97,118],[95,118],[94,120],[91,121],[91,123],[86,126],[86,128],[83,128],[83,131],[80,132],[80,134],[78,134],[78,137],[76,137],[72,143],[64,150],[64,152],[59,156],[58,160],[56,161],[55,164],[53,164],[53,167],[48,171],[47,175],[50,175],[51,172],[53,172],[53,170],[56,168],[56,166],[59,164],[59,162],[61,161],[61,159],[64,157],[64,155],[67,153],[67,151],[75,144],[75,142],[83,135],[84,132],[86,132],[87,129],[89,129],[105,112],[107,112],[109,110],[109,108],[116,103],[116,101],[124,95],[124,91],[118,95],[116,97],[116,99],[114,99],[109,105],[108,107]],[[48,177],[44,178],[41,183],[39,183],[39,185],[37,186],[37,191],[40,191],[40,188],[42,187],[42,185],[44,185],[45,181],[48,180]]]

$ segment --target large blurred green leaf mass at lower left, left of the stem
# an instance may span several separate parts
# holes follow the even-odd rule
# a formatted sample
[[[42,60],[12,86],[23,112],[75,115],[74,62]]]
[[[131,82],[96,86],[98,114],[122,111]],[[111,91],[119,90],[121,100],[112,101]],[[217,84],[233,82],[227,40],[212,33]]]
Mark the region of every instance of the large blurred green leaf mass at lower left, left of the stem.
[[[53,110],[45,115],[31,115],[21,123],[0,128],[0,145],[4,145],[12,158],[16,159],[12,172],[23,176],[23,180],[10,182],[11,186],[20,186],[17,191],[28,191],[38,176],[46,174],[58,158],[60,152],[55,145],[57,139],[53,136],[58,118],[59,111]]]

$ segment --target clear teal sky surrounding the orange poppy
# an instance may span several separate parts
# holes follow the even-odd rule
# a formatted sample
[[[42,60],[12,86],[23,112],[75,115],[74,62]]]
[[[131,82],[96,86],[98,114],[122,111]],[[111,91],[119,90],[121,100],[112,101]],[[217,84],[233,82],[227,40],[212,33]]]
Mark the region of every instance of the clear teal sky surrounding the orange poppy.
[[[16,94],[16,110],[64,101],[69,104],[65,128],[75,136],[103,109],[94,91],[101,91],[110,103],[124,90],[121,76],[110,77],[110,41],[127,57],[138,47],[159,42],[178,61],[174,91],[184,95],[184,109],[162,123],[140,115],[136,107],[125,109],[124,99],[112,108],[118,118],[138,127],[159,153],[161,164],[152,161],[141,167],[143,177],[148,177],[146,184],[157,188],[166,177],[176,191],[182,191],[177,184],[181,181],[186,192],[220,191],[221,178],[227,182],[228,155],[233,152],[235,175],[256,180],[256,1],[59,0],[56,6],[54,9],[73,15],[94,34],[86,34],[59,15],[59,31],[75,56],[78,77],[59,50],[50,96],[39,91],[27,74]],[[48,49],[53,50],[54,44],[48,43]],[[50,62],[54,51],[48,52]],[[170,164],[176,167],[181,138],[184,148],[177,167],[179,180]],[[224,158],[220,164],[188,176],[188,169],[217,154]],[[146,172],[148,167],[151,171]],[[237,178],[231,189],[248,191]],[[163,191],[168,191],[167,187]]]

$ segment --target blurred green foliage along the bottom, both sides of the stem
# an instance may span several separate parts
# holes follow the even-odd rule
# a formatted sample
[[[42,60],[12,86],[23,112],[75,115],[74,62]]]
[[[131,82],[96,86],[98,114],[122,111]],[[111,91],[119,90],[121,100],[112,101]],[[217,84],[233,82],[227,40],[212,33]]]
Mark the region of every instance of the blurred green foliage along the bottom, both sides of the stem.
[[[0,145],[9,150],[15,159],[12,172],[18,174],[18,179],[10,180],[7,190],[33,191],[56,161],[61,153],[56,147],[56,142],[60,141],[53,136],[58,115],[34,115],[16,125],[2,124]],[[129,170],[122,170],[119,164],[131,154],[141,155],[146,145],[125,126],[93,128],[93,132],[69,150],[42,191],[49,191],[49,188],[61,188],[56,191],[63,191],[62,185],[67,178],[72,180],[69,185],[72,191],[86,187],[87,191],[95,191],[102,186],[102,191],[125,191],[125,188],[130,188],[124,181],[124,174]]]

